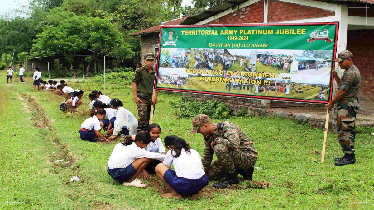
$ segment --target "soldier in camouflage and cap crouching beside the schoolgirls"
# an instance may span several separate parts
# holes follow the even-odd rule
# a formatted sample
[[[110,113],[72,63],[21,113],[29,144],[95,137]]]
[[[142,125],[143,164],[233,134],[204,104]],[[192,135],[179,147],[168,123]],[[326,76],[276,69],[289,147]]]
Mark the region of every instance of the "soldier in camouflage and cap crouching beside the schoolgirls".
[[[227,188],[228,185],[239,183],[238,173],[244,179],[252,180],[258,152],[239,126],[229,121],[213,123],[205,114],[196,115],[192,125],[190,133],[200,133],[205,140],[201,161],[206,175],[213,180],[226,177],[214,183],[215,188]],[[214,152],[218,160],[212,163]]]

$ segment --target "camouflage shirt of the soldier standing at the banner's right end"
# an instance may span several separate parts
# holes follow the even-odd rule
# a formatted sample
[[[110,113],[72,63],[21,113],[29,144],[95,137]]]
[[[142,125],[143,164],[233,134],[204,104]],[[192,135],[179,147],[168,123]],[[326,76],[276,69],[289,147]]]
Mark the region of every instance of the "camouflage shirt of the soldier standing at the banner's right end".
[[[355,65],[345,70],[341,77],[339,89],[347,90],[344,98],[357,97],[361,88],[360,71]]]

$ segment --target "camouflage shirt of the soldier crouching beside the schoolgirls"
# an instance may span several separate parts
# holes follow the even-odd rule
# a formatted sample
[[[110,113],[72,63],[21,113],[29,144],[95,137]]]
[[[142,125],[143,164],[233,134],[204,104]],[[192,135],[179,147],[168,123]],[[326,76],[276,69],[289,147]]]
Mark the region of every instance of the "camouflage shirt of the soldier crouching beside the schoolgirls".
[[[211,147],[211,143],[214,140],[217,144],[222,144],[229,149],[240,149],[247,151],[252,157],[252,161],[255,162],[258,157],[258,152],[253,145],[251,139],[244,133],[242,129],[236,124],[230,121],[222,121],[222,128],[217,127],[217,123],[214,123],[214,135],[205,136],[205,149],[202,158],[204,171],[207,172],[209,166],[212,163],[214,150]]]

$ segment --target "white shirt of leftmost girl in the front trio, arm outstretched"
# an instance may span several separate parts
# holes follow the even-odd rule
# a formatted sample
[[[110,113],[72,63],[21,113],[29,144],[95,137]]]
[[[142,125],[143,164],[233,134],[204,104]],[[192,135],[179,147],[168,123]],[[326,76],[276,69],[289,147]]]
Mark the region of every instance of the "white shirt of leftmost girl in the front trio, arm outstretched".
[[[141,149],[135,144],[135,142],[132,142],[131,145],[127,146],[122,145],[122,143],[117,143],[108,160],[108,167],[109,169],[124,169],[138,158],[163,160],[165,159],[165,156],[166,155],[161,153]]]

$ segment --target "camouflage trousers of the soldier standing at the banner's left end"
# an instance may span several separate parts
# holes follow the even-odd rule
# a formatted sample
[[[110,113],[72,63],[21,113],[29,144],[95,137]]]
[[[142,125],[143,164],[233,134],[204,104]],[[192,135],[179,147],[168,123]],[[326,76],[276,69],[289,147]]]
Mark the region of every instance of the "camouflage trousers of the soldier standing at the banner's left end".
[[[145,130],[149,124],[149,118],[151,116],[151,102],[152,93],[141,93],[137,92],[138,98],[140,98],[141,103],[138,106],[138,127],[137,130]]]

